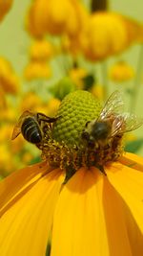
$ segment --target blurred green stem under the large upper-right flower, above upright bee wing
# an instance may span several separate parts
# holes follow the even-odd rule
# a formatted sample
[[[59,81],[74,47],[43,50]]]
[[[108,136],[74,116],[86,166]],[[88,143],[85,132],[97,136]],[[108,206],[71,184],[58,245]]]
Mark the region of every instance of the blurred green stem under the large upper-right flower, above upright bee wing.
[[[107,61],[104,60],[101,62],[101,74],[102,74],[102,84],[103,84],[103,100],[107,100],[109,96],[108,90],[108,65]]]

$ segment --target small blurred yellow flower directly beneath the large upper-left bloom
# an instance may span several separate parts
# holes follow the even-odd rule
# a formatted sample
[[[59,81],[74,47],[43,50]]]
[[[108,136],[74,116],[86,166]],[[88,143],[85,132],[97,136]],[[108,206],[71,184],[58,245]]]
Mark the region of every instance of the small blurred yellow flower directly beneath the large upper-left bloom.
[[[45,61],[53,55],[53,46],[48,40],[35,40],[31,44],[30,58],[31,60]]]

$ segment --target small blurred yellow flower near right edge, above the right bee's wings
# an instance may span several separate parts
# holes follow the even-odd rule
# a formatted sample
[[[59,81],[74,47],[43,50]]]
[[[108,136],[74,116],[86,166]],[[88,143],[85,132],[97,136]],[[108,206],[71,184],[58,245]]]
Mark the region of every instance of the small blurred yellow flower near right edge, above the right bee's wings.
[[[126,61],[118,61],[112,65],[110,78],[112,81],[129,81],[134,77],[133,67]]]

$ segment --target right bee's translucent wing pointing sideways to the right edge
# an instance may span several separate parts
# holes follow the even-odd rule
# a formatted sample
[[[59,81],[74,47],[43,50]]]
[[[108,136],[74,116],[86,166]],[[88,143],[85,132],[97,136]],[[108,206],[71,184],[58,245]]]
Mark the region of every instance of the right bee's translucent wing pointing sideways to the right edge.
[[[134,114],[130,114],[127,112],[123,113],[122,117],[124,118],[126,124],[124,132],[132,131],[133,129],[139,128],[143,125],[143,119],[137,117]]]

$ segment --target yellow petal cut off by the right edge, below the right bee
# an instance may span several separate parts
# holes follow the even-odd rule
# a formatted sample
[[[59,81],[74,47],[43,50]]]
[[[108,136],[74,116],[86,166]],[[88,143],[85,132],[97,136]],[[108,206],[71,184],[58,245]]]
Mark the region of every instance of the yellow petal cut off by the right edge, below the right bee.
[[[120,163],[113,163],[106,172],[112,186],[128,205],[143,233],[143,173]]]

